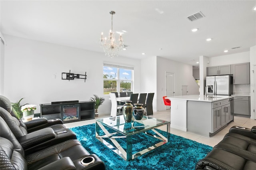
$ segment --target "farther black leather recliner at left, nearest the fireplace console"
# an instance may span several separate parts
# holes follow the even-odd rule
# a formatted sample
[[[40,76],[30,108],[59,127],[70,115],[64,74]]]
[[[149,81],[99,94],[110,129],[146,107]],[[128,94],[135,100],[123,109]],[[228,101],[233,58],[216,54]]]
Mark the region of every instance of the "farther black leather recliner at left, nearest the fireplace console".
[[[33,127],[39,130],[28,132],[27,125],[30,125],[30,123],[25,125],[20,119],[17,119],[15,115],[12,116],[14,113],[12,110],[14,109],[12,109],[11,102],[3,96],[0,96],[0,102],[0,116],[4,119],[14,136],[20,142],[26,154],[69,139],[76,139],[76,134],[64,125],[49,125],[48,123],[44,123],[45,126],[49,125],[49,127],[42,128],[42,121],[37,121],[36,123],[35,121],[32,121],[31,124]],[[47,119],[45,120],[48,122]],[[37,128],[38,124],[40,128]]]

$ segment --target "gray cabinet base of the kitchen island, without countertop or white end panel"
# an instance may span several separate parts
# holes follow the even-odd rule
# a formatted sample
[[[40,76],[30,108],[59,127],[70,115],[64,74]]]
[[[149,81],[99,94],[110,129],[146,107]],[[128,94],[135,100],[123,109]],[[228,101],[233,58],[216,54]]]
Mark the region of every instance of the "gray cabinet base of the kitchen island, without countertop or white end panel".
[[[233,121],[230,99],[214,102],[188,101],[187,109],[188,131],[203,136],[212,136]]]

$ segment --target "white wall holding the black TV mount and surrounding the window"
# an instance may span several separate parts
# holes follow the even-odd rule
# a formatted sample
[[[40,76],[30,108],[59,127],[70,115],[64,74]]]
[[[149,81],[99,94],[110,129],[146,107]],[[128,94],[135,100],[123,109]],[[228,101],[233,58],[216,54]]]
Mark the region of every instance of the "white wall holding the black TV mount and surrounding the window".
[[[104,53],[86,51],[52,43],[4,35],[8,45],[4,59],[4,94],[10,101],[23,99],[38,106],[52,101],[88,101],[96,94],[106,101],[99,113],[110,113],[109,95],[103,95],[103,61],[134,67],[134,91],[140,93],[140,60],[106,57]],[[62,80],[62,72],[84,74],[87,79]],[[56,75],[56,79],[54,78]]]

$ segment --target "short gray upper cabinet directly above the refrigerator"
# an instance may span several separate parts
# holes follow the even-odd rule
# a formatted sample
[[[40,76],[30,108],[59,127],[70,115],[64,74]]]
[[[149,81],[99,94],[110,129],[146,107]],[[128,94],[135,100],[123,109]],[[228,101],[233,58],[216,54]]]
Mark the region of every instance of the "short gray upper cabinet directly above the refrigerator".
[[[220,65],[206,68],[206,75],[229,75],[231,74],[231,65]]]

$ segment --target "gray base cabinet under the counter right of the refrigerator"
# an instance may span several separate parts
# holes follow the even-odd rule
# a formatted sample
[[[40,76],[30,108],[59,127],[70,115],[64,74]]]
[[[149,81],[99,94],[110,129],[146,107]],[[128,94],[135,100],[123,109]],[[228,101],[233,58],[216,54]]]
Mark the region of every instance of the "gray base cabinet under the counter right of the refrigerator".
[[[234,114],[250,116],[250,97],[235,96],[234,97]]]

